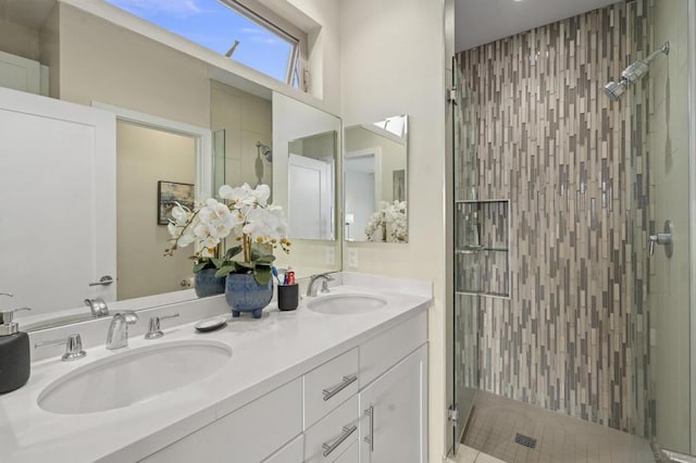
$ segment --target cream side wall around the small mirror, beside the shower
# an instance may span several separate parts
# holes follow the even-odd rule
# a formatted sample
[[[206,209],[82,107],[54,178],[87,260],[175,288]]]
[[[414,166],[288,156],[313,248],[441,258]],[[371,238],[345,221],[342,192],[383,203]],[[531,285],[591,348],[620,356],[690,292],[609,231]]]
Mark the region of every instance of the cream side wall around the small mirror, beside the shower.
[[[434,283],[436,300],[428,315],[431,462],[440,461],[446,439],[444,14],[442,0],[340,3],[344,124],[409,115],[409,243],[347,246],[358,249],[360,272]],[[352,270],[347,259],[344,268]]]

